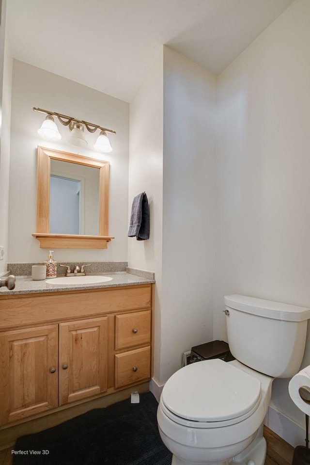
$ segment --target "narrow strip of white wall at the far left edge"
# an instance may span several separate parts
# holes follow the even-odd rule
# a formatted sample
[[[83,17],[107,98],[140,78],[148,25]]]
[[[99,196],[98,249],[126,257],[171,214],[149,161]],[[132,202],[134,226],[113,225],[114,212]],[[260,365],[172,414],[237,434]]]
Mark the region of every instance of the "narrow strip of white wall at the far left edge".
[[[10,126],[11,126],[11,87],[12,56],[5,32],[5,6],[2,0],[0,27],[0,245],[5,248],[5,256],[0,260],[0,276],[6,272],[8,257],[9,223],[9,170],[10,170]]]

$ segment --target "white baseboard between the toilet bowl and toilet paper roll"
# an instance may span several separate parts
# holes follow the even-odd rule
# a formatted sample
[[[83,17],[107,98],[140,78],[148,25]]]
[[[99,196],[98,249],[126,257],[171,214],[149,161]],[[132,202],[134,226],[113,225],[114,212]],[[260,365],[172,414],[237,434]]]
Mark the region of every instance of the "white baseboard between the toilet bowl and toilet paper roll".
[[[305,446],[305,429],[269,405],[264,424],[291,446]]]

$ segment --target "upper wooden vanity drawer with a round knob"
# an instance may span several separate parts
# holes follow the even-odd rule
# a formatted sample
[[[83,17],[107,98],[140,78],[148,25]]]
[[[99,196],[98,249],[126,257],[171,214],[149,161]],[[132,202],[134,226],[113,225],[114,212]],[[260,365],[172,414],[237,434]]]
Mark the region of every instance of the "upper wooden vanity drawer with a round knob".
[[[116,315],[115,350],[151,342],[151,311]]]

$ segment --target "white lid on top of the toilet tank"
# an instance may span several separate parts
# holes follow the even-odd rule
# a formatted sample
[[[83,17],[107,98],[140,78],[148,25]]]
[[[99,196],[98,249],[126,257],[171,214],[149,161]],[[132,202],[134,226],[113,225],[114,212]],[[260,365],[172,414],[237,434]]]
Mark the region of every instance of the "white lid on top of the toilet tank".
[[[310,319],[310,308],[282,304],[246,295],[225,295],[224,303],[226,307],[264,318],[272,318],[273,320],[305,321]]]

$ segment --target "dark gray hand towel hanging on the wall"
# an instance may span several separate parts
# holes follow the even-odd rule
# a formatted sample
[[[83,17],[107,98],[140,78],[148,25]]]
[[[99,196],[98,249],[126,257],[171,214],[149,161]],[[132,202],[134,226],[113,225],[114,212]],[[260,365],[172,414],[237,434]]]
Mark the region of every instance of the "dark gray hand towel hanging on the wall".
[[[128,237],[137,237],[137,241],[150,237],[150,210],[145,192],[137,195],[132,202]]]

